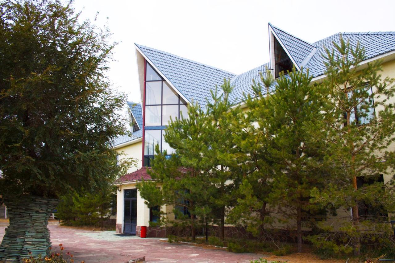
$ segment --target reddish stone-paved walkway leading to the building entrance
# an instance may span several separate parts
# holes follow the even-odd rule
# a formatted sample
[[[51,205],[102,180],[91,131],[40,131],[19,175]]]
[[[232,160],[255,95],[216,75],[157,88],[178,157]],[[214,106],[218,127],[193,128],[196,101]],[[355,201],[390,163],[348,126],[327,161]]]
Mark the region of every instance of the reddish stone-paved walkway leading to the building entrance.
[[[0,225],[0,240],[5,225]],[[75,262],[128,262],[145,256],[148,262],[249,262],[263,255],[236,254],[224,250],[205,249],[188,244],[169,244],[159,239],[120,237],[115,231],[88,231],[49,225],[55,248],[62,243],[64,254],[70,252]],[[59,250],[58,247],[55,248]]]

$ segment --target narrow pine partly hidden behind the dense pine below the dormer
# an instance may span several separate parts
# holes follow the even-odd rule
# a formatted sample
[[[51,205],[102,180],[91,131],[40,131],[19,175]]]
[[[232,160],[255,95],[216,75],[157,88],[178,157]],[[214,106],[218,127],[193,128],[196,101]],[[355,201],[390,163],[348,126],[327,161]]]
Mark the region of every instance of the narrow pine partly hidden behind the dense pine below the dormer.
[[[234,154],[234,159],[241,166],[241,184],[235,193],[237,203],[227,221],[246,226],[247,231],[260,239],[272,239],[265,232],[265,227],[273,223],[271,214],[276,210],[267,203],[274,174],[274,167],[268,158],[273,130],[267,122],[267,116],[270,116],[267,105],[271,100],[267,94],[275,78],[267,68],[265,77],[261,74],[261,82],[264,87],[253,80],[254,94],[245,96],[248,111],[234,118],[237,128],[233,131],[233,140],[240,149]]]

